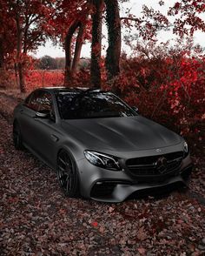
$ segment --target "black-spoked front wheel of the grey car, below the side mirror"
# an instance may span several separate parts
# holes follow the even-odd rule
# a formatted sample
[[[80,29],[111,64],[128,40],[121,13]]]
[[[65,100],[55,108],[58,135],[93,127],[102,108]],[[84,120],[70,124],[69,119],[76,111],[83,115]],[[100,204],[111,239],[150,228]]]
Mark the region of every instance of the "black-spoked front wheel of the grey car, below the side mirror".
[[[69,152],[65,150],[58,153],[56,174],[63,193],[69,198],[77,197],[79,195],[79,181],[76,171],[76,163],[69,155]]]

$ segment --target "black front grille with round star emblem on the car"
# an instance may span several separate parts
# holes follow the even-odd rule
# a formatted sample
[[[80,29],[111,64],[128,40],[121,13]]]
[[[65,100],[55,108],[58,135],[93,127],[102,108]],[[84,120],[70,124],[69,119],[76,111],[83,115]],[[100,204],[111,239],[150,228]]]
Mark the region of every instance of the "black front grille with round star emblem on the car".
[[[126,161],[126,165],[130,174],[137,178],[167,178],[179,171],[182,157],[183,152],[173,152],[151,157],[131,158]]]

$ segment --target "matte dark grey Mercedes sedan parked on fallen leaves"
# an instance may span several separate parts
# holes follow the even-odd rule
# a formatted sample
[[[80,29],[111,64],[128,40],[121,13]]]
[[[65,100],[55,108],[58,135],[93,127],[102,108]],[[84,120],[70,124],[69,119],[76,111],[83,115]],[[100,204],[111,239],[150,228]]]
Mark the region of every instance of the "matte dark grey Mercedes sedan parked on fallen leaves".
[[[43,88],[14,110],[16,149],[56,170],[69,197],[121,202],[134,192],[186,184],[185,140],[109,91]]]

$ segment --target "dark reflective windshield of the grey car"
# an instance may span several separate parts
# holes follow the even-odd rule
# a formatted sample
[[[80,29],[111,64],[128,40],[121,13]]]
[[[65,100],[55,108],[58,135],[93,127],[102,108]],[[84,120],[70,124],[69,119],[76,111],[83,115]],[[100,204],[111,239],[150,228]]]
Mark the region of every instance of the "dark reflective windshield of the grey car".
[[[112,118],[136,116],[127,104],[110,92],[60,92],[56,100],[61,118]]]

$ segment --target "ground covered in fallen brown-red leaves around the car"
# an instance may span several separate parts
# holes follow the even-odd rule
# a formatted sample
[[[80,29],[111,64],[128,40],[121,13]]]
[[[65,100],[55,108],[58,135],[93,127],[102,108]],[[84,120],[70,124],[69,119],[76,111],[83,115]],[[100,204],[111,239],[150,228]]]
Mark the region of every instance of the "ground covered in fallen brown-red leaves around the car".
[[[24,96],[23,96],[24,97]],[[204,159],[188,190],[120,204],[63,196],[55,172],[12,144],[13,92],[0,91],[1,255],[204,255]]]

